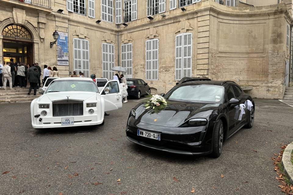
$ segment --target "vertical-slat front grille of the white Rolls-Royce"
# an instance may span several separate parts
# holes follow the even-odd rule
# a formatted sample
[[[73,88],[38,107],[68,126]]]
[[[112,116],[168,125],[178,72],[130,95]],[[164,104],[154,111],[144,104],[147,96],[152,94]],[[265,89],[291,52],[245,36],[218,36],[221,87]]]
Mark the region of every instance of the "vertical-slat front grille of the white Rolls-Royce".
[[[53,116],[81,116],[83,103],[53,103]]]

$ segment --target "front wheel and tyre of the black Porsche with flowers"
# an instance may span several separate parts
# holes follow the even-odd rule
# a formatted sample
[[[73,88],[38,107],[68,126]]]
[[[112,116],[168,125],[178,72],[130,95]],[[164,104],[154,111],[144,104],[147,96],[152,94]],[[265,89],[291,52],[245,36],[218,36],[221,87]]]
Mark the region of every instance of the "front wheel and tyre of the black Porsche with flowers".
[[[222,153],[224,143],[224,126],[222,120],[219,120],[214,127],[214,145],[212,151],[212,157],[218,158]]]

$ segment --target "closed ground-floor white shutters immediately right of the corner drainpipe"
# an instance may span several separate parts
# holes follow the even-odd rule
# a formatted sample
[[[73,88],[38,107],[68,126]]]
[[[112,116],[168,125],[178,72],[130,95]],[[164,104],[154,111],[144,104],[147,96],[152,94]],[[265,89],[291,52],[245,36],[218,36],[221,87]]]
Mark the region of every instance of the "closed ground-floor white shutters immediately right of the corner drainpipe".
[[[121,45],[121,67],[127,70],[127,77],[132,78],[132,43]]]

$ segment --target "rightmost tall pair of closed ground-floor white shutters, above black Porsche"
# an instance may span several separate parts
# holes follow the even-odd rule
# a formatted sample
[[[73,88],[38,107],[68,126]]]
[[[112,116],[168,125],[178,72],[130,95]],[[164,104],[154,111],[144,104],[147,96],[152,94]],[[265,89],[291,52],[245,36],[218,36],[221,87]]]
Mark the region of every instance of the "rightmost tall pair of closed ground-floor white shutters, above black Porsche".
[[[191,77],[192,33],[182,33],[175,41],[175,80]]]

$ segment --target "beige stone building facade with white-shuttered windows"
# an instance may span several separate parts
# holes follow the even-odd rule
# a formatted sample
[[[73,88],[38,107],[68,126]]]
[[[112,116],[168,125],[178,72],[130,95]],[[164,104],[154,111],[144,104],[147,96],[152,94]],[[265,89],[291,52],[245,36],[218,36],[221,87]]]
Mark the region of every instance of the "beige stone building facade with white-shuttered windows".
[[[57,65],[63,77],[112,78],[111,67],[123,66],[153,93],[207,76],[282,98],[292,84],[292,0],[276,1],[0,0],[0,55],[56,66],[57,30],[68,34],[69,66]]]

